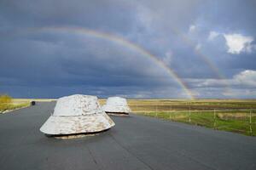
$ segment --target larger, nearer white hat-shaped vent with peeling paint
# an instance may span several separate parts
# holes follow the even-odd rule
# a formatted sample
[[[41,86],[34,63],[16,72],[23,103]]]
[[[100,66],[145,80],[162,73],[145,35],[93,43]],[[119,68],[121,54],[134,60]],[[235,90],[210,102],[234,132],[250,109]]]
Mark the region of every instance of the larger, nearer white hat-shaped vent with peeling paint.
[[[113,126],[96,96],[75,94],[57,100],[54,113],[40,131],[49,135],[98,133]]]

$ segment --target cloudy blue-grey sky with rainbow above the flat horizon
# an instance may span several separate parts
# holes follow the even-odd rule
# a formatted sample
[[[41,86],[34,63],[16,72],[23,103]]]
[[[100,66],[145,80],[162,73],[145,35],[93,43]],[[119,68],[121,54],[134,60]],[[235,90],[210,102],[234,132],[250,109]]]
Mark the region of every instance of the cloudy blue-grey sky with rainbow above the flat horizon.
[[[255,99],[255,0],[0,0],[0,94]]]

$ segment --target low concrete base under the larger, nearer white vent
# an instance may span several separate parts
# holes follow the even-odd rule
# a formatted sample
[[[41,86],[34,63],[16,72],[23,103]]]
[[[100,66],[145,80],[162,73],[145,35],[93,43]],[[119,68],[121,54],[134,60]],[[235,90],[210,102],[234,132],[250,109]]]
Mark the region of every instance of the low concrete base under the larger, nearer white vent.
[[[47,136],[48,138],[55,138],[55,139],[80,139],[85,137],[96,136],[108,130],[109,129],[106,129],[106,130],[95,132],[95,133],[74,133],[74,134],[58,134],[58,135],[45,134],[45,136]]]

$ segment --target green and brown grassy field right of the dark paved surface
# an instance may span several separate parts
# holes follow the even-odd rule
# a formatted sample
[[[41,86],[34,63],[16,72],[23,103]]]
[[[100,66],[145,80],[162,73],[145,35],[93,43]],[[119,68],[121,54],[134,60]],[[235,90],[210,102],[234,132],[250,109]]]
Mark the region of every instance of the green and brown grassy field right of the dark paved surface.
[[[144,116],[256,136],[256,99],[129,99],[128,105]]]

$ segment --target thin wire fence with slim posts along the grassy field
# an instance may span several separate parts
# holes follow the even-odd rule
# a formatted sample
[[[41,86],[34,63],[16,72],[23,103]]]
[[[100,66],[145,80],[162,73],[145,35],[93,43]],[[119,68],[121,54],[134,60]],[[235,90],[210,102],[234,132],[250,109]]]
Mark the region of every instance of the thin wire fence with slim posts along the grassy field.
[[[172,105],[131,105],[133,112],[174,122],[185,122],[218,130],[256,136],[256,109],[173,110]]]

